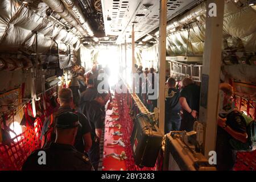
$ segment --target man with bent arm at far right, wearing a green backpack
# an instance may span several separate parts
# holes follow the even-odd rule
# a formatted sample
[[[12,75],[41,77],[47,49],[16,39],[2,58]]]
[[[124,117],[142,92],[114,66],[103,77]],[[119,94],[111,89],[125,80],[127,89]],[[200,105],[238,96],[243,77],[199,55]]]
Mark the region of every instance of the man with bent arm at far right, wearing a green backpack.
[[[246,121],[238,109],[229,108],[232,105],[233,88],[229,84],[220,84],[220,90],[224,93],[223,108],[230,109],[227,114],[218,117],[216,153],[217,170],[232,171],[236,163],[237,151],[232,147],[235,143],[246,143]],[[221,113],[219,113],[221,114]]]

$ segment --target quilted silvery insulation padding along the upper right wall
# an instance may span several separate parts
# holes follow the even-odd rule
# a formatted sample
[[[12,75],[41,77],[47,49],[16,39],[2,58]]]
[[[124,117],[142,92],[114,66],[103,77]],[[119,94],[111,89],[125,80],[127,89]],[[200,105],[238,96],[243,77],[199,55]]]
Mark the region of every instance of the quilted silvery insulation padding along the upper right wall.
[[[247,56],[255,52],[256,43],[256,11],[247,4],[246,0],[240,0],[240,4],[229,1],[225,3],[223,24],[224,51],[242,52]],[[201,56],[204,53],[205,40],[205,2],[189,10],[187,13],[177,16],[167,23],[167,55],[169,56]],[[146,36],[143,42],[159,37],[159,31],[151,32],[152,36]]]

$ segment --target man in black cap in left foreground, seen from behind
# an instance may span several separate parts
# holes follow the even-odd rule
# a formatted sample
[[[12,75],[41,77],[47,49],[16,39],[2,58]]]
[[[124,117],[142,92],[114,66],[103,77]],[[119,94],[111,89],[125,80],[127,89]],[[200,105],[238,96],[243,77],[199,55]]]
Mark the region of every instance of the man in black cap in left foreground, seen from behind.
[[[32,152],[22,171],[92,171],[89,158],[73,146],[81,127],[75,113],[65,112],[56,117],[56,139],[48,148]]]

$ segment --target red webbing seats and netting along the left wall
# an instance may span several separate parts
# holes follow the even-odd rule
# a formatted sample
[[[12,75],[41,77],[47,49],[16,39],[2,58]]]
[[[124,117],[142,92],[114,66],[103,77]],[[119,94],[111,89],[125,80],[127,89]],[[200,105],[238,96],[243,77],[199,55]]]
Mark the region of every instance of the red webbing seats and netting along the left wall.
[[[28,111],[32,113],[32,107],[27,104],[24,108],[24,115],[26,117],[26,130],[14,137],[13,139],[6,139],[4,143],[0,143],[0,171],[20,170],[23,163],[32,151],[37,150],[41,146],[40,135],[43,127],[44,118],[57,110],[49,101],[49,95],[45,97],[47,109],[43,111],[40,117],[36,118],[32,123],[31,118],[28,117]],[[9,144],[6,144],[9,143]]]

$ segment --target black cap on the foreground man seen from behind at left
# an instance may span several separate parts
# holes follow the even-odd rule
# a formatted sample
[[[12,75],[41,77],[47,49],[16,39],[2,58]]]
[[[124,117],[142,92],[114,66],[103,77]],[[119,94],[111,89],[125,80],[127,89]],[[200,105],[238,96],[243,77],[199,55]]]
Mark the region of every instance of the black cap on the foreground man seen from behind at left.
[[[56,117],[55,127],[61,129],[73,129],[75,127],[81,127],[79,122],[79,116],[72,112],[61,113]]]

